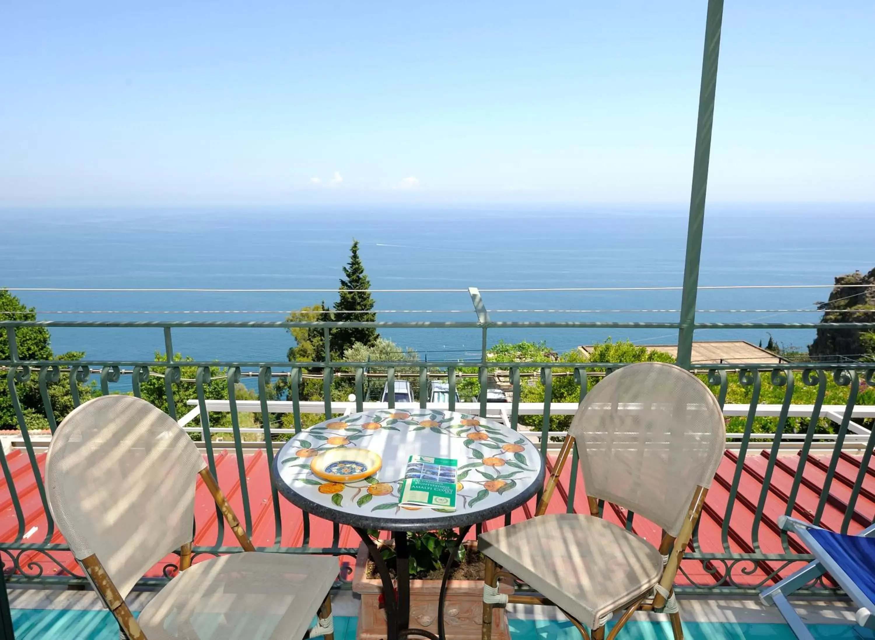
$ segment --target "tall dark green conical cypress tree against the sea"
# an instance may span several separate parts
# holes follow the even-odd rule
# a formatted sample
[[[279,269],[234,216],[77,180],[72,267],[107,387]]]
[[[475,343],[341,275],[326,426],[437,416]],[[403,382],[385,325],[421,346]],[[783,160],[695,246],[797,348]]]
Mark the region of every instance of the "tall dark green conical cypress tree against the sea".
[[[340,279],[338,289],[339,300],[334,303],[335,311],[365,311],[366,313],[337,313],[334,320],[338,322],[359,321],[374,322],[375,313],[367,313],[374,309],[374,298],[371,297],[371,281],[365,273],[365,266],[359,257],[359,241],[353,239],[349,249],[349,262],[343,268],[344,277]],[[347,347],[355,343],[371,346],[380,335],[373,327],[339,327],[331,332],[332,358],[343,358]]]

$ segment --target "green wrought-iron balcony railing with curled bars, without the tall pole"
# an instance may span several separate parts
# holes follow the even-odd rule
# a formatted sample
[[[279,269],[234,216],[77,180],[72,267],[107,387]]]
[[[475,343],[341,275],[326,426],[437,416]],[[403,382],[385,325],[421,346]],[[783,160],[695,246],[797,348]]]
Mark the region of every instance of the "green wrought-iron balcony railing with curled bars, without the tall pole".
[[[276,453],[276,430],[270,427],[271,425],[271,409],[268,400],[268,390],[271,381],[285,378],[288,383],[290,402],[290,413],[293,416],[292,424],[294,433],[301,431],[302,415],[305,410],[312,412],[314,409],[305,400],[301,400],[298,393],[298,386],[304,375],[312,376],[314,371],[321,370],[320,377],[322,379],[322,389],[324,397],[319,400],[321,407],[318,409],[325,414],[340,413],[344,407],[339,403],[332,401],[331,389],[332,380],[335,376],[346,375],[353,380],[355,389],[354,406],[351,409],[361,410],[364,399],[364,381],[369,375],[373,375],[374,369],[379,367],[384,371],[384,375],[388,381],[388,406],[395,406],[394,399],[394,379],[405,376],[413,382],[418,382],[419,406],[424,407],[427,404],[428,383],[432,379],[439,377],[441,380],[446,379],[450,387],[450,403],[455,404],[455,392],[459,382],[459,368],[474,367],[477,370],[477,379],[483,384],[480,385],[479,397],[469,409],[472,414],[487,414],[487,411],[493,410],[496,405],[490,405],[486,401],[486,380],[490,372],[501,371],[502,375],[507,376],[510,386],[511,400],[507,405],[502,405],[505,408],[509,417],[509,422],[512,428],[526,428],[535,439],[540,435],[540,448],[542,456],[545,460],[548,459],[548,452],[551,440],[557,440],[563,437],[561,432],[550,431],[550,416],[551,412],[556,412],[556,407],[562,407],[563,413],[567,411],[568,406],[556,405],[553,398],[553,389],[557,376],[574,376],[576,384],[579,386],[579,399],[583,399],[587,388],[588,380],[597,379],[603,376],[606,372],[610,372],[620,366],[622,363],[590,363],[590,362],[493,362],[487,359],[486,339],[487,332],[493,327],[528,327],[531,330],[537,330],[541,327],[566,327],[574,328],[593,328],[604,327],[615,329],[620,327],[640,327],[654,328],[655,326],[673,326],[677,328],[676,323],[496,323],[488,318],[485,309],[478,310],[478,322],[457,322],[457,323],[353,323],[359,326],[374,326],[377,329],[403,327],[409,329],[435,329],[437,327],[450,330],[453,328],[470,329],[477,327],[483,333],[483,346],[479,361],[476,362],[460,362],[460,361],[443,361],[443,362],[424,362],[424,361],[387,361],[387,362],[341,362],[326,359],[324,362],[288,362],[288,361],[273,361],[273,362],[258,362],[258,361],[175,361],[173,359],[172,346],[172,331],[177,328],[192,328],[192,327],[221,327],[225,329],[235,328],[276,328],[276,327],[291,327],[291,326],[318,326],[325,330],[325,351],[330,350],[331,330],[334,327],[343,323],[128,323],[128,322],[0,322],[0,328],[6,331],[11,345],[11,359],[0,362],[0,367],[6,371],[6,383],[13,407],[18,418],[18,428],[21,430],[21,438],[24,443],[25,453],[27,456],[27,465],[29,472],[32,475],[32,486],[35,487],[35,493],[27,497],[28,509],[31,511],[25,512],[23,507],[22,497],[18,495],[17,486],[21,482],[16,483],[15,478],[11,474],[10,466],[7,463],[7,456],[0,454],[0,465],[3,467],[5,485],[9,490],[9,502],[11,509],[16,514],[17,530],[9,539],[0,541],[0,554],[4,555],[7,567],[14,569],[14,574],[8,576],[8,581],[11,584],[15,583],[38,583],[38,584],[78,584],[84,579],[76,569],[71,570],[65,567],[63,558],[59,554],[68,551],[68,547],[61,544],[57,539],[57,531],[53,525],[51,515],[47,509],[45,498],[45,487],[43,485],[42,475],[39,470],[39,460],[37,455],[38,443],[31,440],[30,434],[25,425],[25,415],[22,411],[21,404],[18,400],[18,386],[29,379],[36,379],[38,382],[40,396],[44,402],[45,416],[52,430],[57,427],[58,416],[55,414],[52,407],[51,396],[48,393],[48,385],[58,383],[61,375],[69,376],[69,386],[73,395],[73,404],[78,405],[81,402],[80,394],[78,393],[78,385],[93,380],[91,376],[95,376],[95,390],[99,393],[112,393],[114,385],[123,381],[124,377],[130,377],[131,393],[140,396],[142,394],[142,386],[144,382],[156,374],[155,370],[160,371],[165,385],[165,393],[167,398],[173,398],[173,392],[176,386],[183,383],[182,367],[193,367],[196,375],[193,383],[196,393],[192,400],[196,400],[197,415],[200,418],[200,428],[203,434],[203,443],[201,446],[205,449],[207,462],[211,471],[216,471],[217,443],[214,442],[214,434],[211,432],[210,414],[214,412],[214,408],[209,407],[210,400],[207,400],[205,389],[211,379],[214,379],[216,367],[221,367],[223,370],[222,376],[225,379],[228,390],[228,413],[230,414],[231,432],[233,434],[233,443],[228,443],[236,454],[237,478],[239,491],[242,498],[242,520],[247,532],[251,534],[254,527],[253,505],[250,504],[249,488],[247,480],[247,470],[245,464],[245,454],[249,449],[244,447],[244,438],[241,428],[240,415],[241,411],[239,404],[242,400],[235,398],[235,385],[240,381],[243,374],[254,376],[257,379],[257,408],[255,409],[261,414],[261,430],[263,443],[259,446],[264,447],[264,453],[267,456],[267,462],[271,463],[273,456]],[[847,323],[845,326],[859,326],[861,323]],[[808,325],[803,324],[779,324],[779,323],[737,323],[735,325],[720,324],[718,326],[725,328],[734,326],[735,328],[811,328],[819,326],[819,323]],[[16,332],[20,327],[26,326],[48,326],[48,327],[90,327],[94,330],[100,328],[128,328],[132,331],[143,330],[160,330],[165,337],[165,348],[167,354],[166,361],[142,361],[142,360],[73,360],[73,361],[26,361],[18,359],[16,348]],[[715,325],[711,323],[699,323],[696,325],[698,329],[708,329]],[[835,324],[830,326],[835,327]],[[212,370],[212,371],[211,371]],[[401,370],[404,372],[402,373]],[[534,374],[540,379],[543,387],[544,400],[541,407],[538,407],[538,412],[542,416],[540,428],[521,426],[521,407],[525,408],[531,414],[531,407],[521,403],[521,390],[528,381],[523,381],[526,376]],[[851,427],[855,425],[852,421],[852,415],[855,410],[859,411],[858,394],[861,385],[875,385],[875,365],[872,364],[714,364],[714,365],[697,365],[697,370],[707,376],[708,382],[714,388],[718,400],[723,406],[731,382],[738,382],[740,386],[750,391],[750,399],[747,403],[746,424],[745,430],[740,435],[738,442],[737,462],[732,475],[731,485],[728,487],[729,499],[726,503],[725,510],[722,513],[711,514],[722,521],[722,531],[720,544],[717,548],[713,545],[703,544],[699,539],[697,532],[693,540],[690,553],[687,554],[687,560],[684,561],[682,573],[686,574],[690,581],[690,586],[681,588],[685,591],[695,592],[713,592],[717,591],[750,591],[756,588],[757,581],[761,583],[772,580],[774,577],[782,573],[787,573],[787,568],[794,566],[801,561],[810,559],[810,556],[805,553],[805,550],[800,548],[793,539],[788,539],[786,533],[781,533],[781,552],[774,553],[774,549],[769,553],[763,550],[760,545],[760,532],[762,527],[768,527],[774,532],[774,513],[767,513],[767,502],[770,497],[770,480],[774,473],[777,453],[783,446],[787,446],[792,442],[795,446],[801,447],[802,463],[799,464],[795,472],[792,489],[789,492],[788,506],[786,515],[800,515],[798,512],[794,514],[795,498],[802,487],[803,470],[808,463],[809,452],[814,446],[821,446],[823,442],[818,444],[823,438],[829,437],[827,443],[832,443],[832,451],[830,454],[830,463],[825,473],[825,482],[823,491],[819,497],[819,502],[814,514],[810,516],[815,523],[818,523],[823,518],[824,510],[830,504],[830,508],[835,508],[832,492],[830,489],[834,483],[837,483],[837,465],[842,460],[843,448],[846,448],[848,442],[853,441],[854,447],[862,452],[860,460],[859,472],[857,477],[853,479],[850,487],[851,494],[844,504],[844,519],[841,523],[841,530],[847,531],[851,522],[858,525],[866,525],[868,522],[860,522],[860,514],[855,509],[858,503],[858,497],[861,492],[865,492],[866,496],[872,495],[872,478],[867,475],[869,463],[872,457],[872,450],[875,449],[875,430],[868,436],[861,435],[860,429],[856,429],[856,433],[851,432]],[[412,372],[411,372],[412,371]],[[774,423],[773,435],[762,435],[754,432],[755,421],[758,420],[758,400],[760,390],[763,385],[764,377],[768,377],[769,384],[773,386],[782,386],[785,389],[783,400],[781,403],[780,414],[772,420]],[[842,419],[837,423],[836,433],[830,436],[823,436],[817,433],[817,425],[824,417],[825,410],[824,398],[827,391],[828,383],[843,389],[844,407],[841,414]],[[809,415],[808,428],[803,433],[789,435],[787,431],[788,414],[794,409],[795,390],[802,387],[814,387],[817,390],[816,401],[811,407]],[[577,399],[576,399],[577,400]],[[247,405],[250,406],[250,405]],[[288,407],[286,407],[288,409]],[[573,406],[571,407],[573,410]],[[179,419],[173,402],[169,403],[168,413],[172,417]],[[276,413],[276,412],[273,412]],[[494,413],[494,412],[493,412]],[[795,411],[798,414],[798,411]],[[761,420],[761,419],[760,419]],[[795,420],[795,419],[794,419]],[[764,440],[766,438],[766,440]],[[800,438],[803,438],[800,441]],[[865,442],[861,442],[864,440]],[[769,443],[770,441],[770,443]],[[45,445],[44,445],[45,446]],[[221,446],[225,446],[222,444]],[[249,445],[246,445],[247,447]],[[751,447],[764,447],[769,449],[769,462],[765,477],[762,478],[762,489],[760,491],[759,500],[755,505],[746,504],[746,511],[753,511],[753,524],[749,526],[749,532],[746,534],[746,539],[739,542],[738,528],[739,525],[733,519],[733,514],[739,509],[739,485],[743,474],[746,473],[744,468],[745,456],[748,449]],[[579,476],[578,473],[577,452],[571,461],[571,474],[573,478]],[[19,471],[20,473],[20,471]],[[567,508],[568,511],[574,510],[575,495],[578,493],[577,483],[570,483],[567,490]],[[280,502],[276,493],[276,489],[271,487],[271,498],[273,500],[272,512],[275,521],[273,532],[273,544],[264,547],[265,550],[276,553],[332,553],[336,555],[354,556],[356,549],[339,546],[340,531],[338,526],[334,526],[332,532],[332,544],[329,546],[311,546],[311,519],[306,513],[302,513],[303,519],[303,539],[301,546],[283,546],[283,518],[280,511]],[[34,512],[34,504],[38,504]],[[634,513],[623,513],[625,524],[628,528],[633,527]],[[27,538],[27,525],[34,519],[45,518],[45,530],[39,532],[40,539],[31,540]],[[217,540],[223,538],[224,526],[220,514],[216,514],[215,526],[218,529]],[[733,538],[735,536],[735,538]],[[743,543],[743,544],[742,544]],[[739,551],[739,545],[742,550]],[[236,546],[196,546],[195,553],[219,554],[219,553],[234,553],[239,551]],[[55,571],[47,570],[44,566],[46,563],[54,563],[57,565]],[[699,567],[697,571],[690,572],[690,567]],[[168,566],[171,569],[172,565]],[[702,573],[708,574],[708,577],[703,579]],[[170,574],[170,572],[168,573]],[[750,578],[751,575],[756,576],[756,580]],[[162,582],[164,579],[149,578],[142,581],[141,586],[150,586]],[[821,584],[821,587],[824,585]]]

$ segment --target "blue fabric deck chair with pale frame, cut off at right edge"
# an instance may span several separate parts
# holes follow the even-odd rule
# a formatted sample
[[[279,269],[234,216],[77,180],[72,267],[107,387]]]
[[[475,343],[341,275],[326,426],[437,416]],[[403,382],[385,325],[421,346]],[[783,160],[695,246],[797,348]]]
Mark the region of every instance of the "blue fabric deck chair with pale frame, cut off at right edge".
[[[800,640],[814,640],[787,596],[829,572],[858,607],[857,623],[875,630],[875,525],[858,535],[844,535],[808,522],[781,516],[781,529],[794,532],[816,560],[760,593],[763,604],[774,604]]]

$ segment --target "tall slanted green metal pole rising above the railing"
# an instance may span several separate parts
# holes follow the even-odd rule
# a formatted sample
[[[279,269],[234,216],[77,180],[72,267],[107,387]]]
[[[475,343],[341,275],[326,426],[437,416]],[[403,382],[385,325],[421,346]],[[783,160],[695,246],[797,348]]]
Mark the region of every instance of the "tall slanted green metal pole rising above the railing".
[[[708,189],[708,162],[711,157],[711,127],[714,123],[714,94],[717,89],[717,66],[722,23],[723,0],[708,0],[705,47],[702,59],[702,85],[699,87],[696,152],[693,158],[693,187],[690,194],[690,222],[687,227],[687,254],[683,266],[681,328],[677,334],[677,364],[685,369],[690,368],[693,351],[693,325],[696,323],[699,259],[702,255],[705,192]]]

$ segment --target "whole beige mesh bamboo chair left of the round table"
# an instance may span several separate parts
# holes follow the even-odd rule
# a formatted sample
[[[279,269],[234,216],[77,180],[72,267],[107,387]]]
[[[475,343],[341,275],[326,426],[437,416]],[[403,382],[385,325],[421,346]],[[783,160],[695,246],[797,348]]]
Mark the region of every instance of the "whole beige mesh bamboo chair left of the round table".
[[[213,495],[244,552],[192,564],[195,483]],[[45,460],[49,507],[129,640],[333,638],[329,556],[256,553],[186,432],[145,400],[103,396],[59,425]],[[221,545],[222,541],[218,543]],[[124,602],[179,550],[179,574],[139,618]]]

